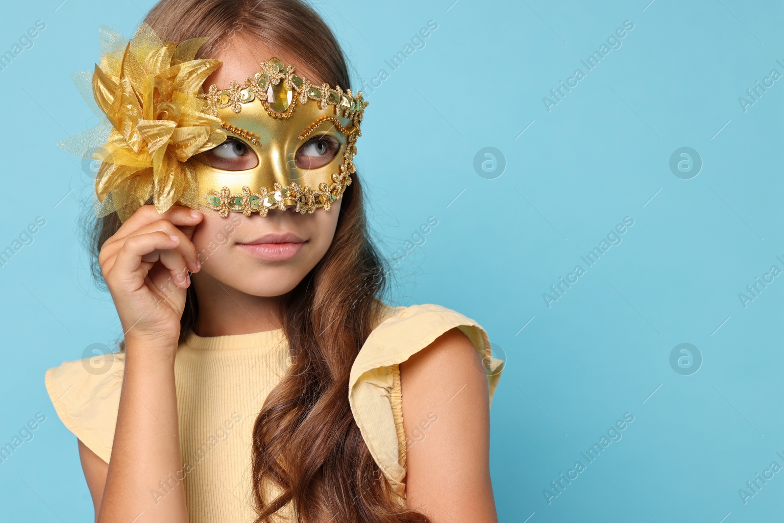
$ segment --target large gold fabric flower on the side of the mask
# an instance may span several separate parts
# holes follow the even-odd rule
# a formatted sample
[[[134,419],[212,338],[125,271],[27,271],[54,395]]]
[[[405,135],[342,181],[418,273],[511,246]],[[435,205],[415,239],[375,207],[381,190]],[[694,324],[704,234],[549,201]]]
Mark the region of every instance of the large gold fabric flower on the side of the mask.
[[[117,45],[122,37],[103,35]],[[221,120],[203,112],[201,85],[220,60],[194,60],[207,38],[162,42],[142,23],[124,47],[96,64],[93,96],[111,123],[93,158],[103,207],[127,220],[149,198],[158,212],[178,203],[198,209],[198,181],[190,158],[226,140]],[[111,199],[107,201],[107,198]]]

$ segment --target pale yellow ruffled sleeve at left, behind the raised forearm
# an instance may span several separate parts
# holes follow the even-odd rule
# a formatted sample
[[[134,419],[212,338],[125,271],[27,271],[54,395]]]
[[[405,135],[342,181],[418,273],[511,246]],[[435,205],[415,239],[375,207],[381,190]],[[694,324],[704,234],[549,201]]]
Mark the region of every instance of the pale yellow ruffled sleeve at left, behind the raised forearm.
[[[57,416],[88,449],[109,463],[120,406],[125,354],[63,361],[45,373]]]

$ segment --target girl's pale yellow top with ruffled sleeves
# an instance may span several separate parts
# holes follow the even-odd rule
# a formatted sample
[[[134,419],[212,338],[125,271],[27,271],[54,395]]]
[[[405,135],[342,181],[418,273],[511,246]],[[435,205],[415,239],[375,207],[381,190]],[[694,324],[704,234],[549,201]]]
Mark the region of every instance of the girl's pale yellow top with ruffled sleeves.
[[[398,364],[459,327],[484,357],[492,402],[503,361],[492,358],[485,329],[446,307],[384,305],[381,319],[354,360],[347,394],[362,438],[392,485],[395,500],[405,504],[406,444]],[[288,358],[282,329],[212,337],[188,332],[177,348],[174,365],[183,472],[180,478],[176,474],[161,478],[152,496],[165,496],[171,488],[167,483],[182,479],[192,523],[254,520],[253,423],[267,394],[285,374]],[[107,463],[124,363],[123,353],[103,354],[64,361],[45,374],[46,390],[65,427]]]

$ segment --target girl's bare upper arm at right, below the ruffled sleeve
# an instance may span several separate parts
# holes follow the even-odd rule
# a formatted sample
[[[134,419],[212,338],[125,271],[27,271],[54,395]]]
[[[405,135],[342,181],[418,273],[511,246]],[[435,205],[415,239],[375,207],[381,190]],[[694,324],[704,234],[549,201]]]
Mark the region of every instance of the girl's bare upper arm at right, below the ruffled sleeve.
[[[488,379],[455,327],[400,364],[406,501],[441,521],[495,523]]]

